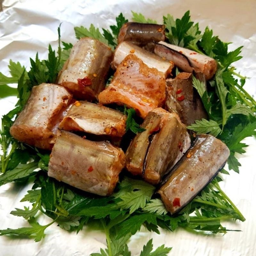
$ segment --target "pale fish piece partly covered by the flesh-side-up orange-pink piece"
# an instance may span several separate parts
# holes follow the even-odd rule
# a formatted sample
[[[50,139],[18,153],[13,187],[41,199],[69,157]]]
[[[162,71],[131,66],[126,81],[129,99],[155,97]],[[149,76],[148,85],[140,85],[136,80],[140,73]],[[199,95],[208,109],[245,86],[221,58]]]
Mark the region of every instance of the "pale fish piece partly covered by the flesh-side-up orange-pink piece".
[[[172,62],[164,60],[156,54],[148,52],[130,42],[122,42],[117,45],[111,67],[116,69],[124,58],[131,53],[141,59],[149,68],[156,68],[158,71],[164,72],[165,77],[172,72],[172,68],[174,67]]]

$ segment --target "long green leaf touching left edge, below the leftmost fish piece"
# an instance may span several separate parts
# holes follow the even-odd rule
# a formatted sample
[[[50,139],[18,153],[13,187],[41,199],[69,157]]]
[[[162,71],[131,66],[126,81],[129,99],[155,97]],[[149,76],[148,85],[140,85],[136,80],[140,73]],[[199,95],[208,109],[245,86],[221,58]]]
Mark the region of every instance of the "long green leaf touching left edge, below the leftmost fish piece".
[[[37,168],[37,162],[19,164],[15,169],[0,175],[0,186],[30,176]]]

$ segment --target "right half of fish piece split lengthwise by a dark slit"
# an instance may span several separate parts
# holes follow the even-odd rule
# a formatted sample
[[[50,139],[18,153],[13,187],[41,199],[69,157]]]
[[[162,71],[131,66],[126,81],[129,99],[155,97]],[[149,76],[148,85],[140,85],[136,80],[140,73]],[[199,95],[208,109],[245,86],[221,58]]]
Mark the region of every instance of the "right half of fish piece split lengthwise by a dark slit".
[[[155,108],[153,112],[161,116],[161,123],[145,157],[143,178],[151,184],[158,184],[190,147],[190,138],[178,115],[163,108]]]

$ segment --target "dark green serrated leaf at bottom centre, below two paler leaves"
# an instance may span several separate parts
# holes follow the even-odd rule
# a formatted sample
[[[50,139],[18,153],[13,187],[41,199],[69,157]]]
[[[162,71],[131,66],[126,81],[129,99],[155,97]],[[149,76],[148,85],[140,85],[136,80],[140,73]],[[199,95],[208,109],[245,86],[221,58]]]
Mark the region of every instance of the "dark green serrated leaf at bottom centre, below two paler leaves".
[[[134,235],[138,230],[140,230],[141,225],[146,221],[157,225],[156,216],[157,215],[153,213],[142,213],[139,215],[133,215],[129,219],[124,220],[119,224],[117,239],[125,236],[129,232]]]

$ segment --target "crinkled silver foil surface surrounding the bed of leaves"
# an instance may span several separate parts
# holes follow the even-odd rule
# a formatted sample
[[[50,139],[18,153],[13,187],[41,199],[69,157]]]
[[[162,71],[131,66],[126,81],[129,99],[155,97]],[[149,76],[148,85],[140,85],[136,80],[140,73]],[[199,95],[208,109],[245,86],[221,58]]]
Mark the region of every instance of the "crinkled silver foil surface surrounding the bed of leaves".
[[[29,57],[34,58],[36,52],[40,59],[47,57],[50,43],[57,48],[57,28],[60,22],[61,36],[65,42],[75,43],[73,27],[83,25],[89,27],[108,28],[115,23],[115,17],[123,12],[126,18],[131,18],[131,10],[141,12],[146,17],[161,22],[162,15],[170,13],[174,18],[180,18],[190,10],[191,19],[199,22],[201,30],[206,26],[213,29],[223,41],[233,42],[229,45],[234,50],[244,45],[244,58],[235,66],[241,74],[251,77],[244,88],[250,93],[256,93],[256,1],[255,0],[129,0],[129,1],[82,1],[82,0],[6,0],[3,2],[3,12],[0,13],[0,71],[8,75],[9,59],[20,61],[29,67]],[[1,90],[1,89],[0,89]],[[11,110],[16,103],[15,97],[0,99],[1,116]],[[255,138],[244,141],[249,147],[240,157],[242,164],[240,174],[230,172],[225,176],[225,182],[220,183],[224,191],[244,214],[244,223],[226,222],[228,231],[222,235],[200,235],[188,233],[181,228],[175,232],[161,231],[161,235],[141,229],[129,242],[132,255],[139,255],[143,244],[153,237],[154,248],[161,244],[173,247],[168,255],[186,256],[252,256],[256,255],[256,180],[255,180]],[[6,184],[0,188],[0,229],[18,228],[27,225],[20,217],[10,215],[15,207],[24,204],[20,199],[30,188]],[[42,223],[49,223],[46,217]],[[76,235],[57,227],[50,226],[46,230],[43,241],[35,243],[33,239],[13,239],[0,237],[0,255],[42,256],[42,255],[90,255],[105,248],[105,236],[99,229],[84,228]]]

